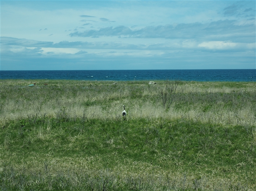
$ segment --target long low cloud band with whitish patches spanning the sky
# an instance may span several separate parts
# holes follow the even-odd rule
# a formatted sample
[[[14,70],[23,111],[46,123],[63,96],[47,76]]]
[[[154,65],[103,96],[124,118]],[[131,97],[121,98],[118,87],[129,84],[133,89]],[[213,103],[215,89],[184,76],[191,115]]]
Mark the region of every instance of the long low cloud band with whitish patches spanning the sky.
[[[24,49],[34,49],[37,53],[45,54],[47,52],[54,52],[55,54],[84,54],[96,52],[106,52],[109,49],[109,53],[113,53],[113,50],[117,50],[117,54],[126,54],[129,51],[160,51],[167,53],[170,51],[219,51],[224,52],[238,52],[238,51],[255,51],[255,43],[235,43],[232,41],[196,41],[196,40],[172,40],[169,43],[150,43],[150,44],[128,44],[121,42],[84,42],[84,41],[61,41],[59,43],[34,41],[27,39],[18,39],[10,37],[2,37],[2,50],[10,50],[13,53],[24,51]],[[38,48],[38,49],[36,49]],[[39,51],[40,50],[40,51]],[[94,50],[94,51],[93,51]],[[123,50],[123,51],[122,51]],[[3,51],[2,51],[3,52]],[[32,52],[31,52],[32,53]],[[135,53],[135,52],[134,52]],[[133,53],[133,54],[134,54]],[[105,54],[105,53],[104,53]],[[115,55],[117,55],[115,54]],[[152,54],[152,53],[150,53]],[[135,55],[135,54],[134,54]],[[132,54],[131,54],[132,56]]]

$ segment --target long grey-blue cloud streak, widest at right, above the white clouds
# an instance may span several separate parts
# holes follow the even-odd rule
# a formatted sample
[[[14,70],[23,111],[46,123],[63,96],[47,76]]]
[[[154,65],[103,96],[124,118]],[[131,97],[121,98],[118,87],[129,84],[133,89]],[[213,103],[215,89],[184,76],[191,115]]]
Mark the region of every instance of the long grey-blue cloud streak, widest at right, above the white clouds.
[[[235,20],[219,20],[210,23],[190,23],[177,25],[147,26],[132,30],[126,26],[105,27],[98,30],[85,30],[70,33],[70,37],[123,37],[123,38],[165,38],[165,39],[207,39],[235,40],[234,34],[240,38],[250,38],[255,42],[255,19],[238,24]],[[222,37],[221,37],[222,36]]]

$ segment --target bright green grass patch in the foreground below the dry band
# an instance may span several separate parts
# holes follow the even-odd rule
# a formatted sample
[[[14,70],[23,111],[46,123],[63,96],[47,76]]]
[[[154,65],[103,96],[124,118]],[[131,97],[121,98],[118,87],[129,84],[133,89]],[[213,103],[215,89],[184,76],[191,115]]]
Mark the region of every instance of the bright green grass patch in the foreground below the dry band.
[[[104,178],[105,189],[110,190],[154,186],[215,189],[220,179],[227,181],[227,189],[238,184],[240,189],[252,189],[256,183],[254,128],[163,119],[12,121],[0,134],[2,189],[29,189],[32,185],[41,189],[98,189],[104,187]],[[10,179],[12,171],[18,175]],[[60,179],[54,179],[56,176]],[[110,177],[115,182],[110,182]],[[129,177],[136,183],[129,182]],[[172,187],[168,181],[174,180],[177,183]],[[66,186],[54,186],[58,181]],[[228,181],[234,182],[229,185]]]

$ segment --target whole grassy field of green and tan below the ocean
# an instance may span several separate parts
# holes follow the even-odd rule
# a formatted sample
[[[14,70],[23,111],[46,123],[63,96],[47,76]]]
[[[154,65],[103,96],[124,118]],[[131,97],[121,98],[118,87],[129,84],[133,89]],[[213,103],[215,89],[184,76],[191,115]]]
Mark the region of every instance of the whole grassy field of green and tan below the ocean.
[[[256,82],[114,83],[1,80],[0,190],[256,189]]]

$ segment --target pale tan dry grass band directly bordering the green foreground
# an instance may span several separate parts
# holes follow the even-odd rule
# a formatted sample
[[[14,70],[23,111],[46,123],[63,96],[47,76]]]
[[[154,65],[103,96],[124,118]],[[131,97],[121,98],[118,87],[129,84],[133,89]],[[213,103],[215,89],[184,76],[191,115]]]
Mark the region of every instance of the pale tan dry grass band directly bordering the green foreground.
[[[125,102],[125,101],[124,101]],[[129,101],[127,101],[129,102]],[[99,119],[116,119],[121,116],[122,105],[123,103],[113,103],[110,106],[107,106],[107,109],[104,109],[102,106],[91,106],[84,108],[83,106],[65,104],[66,111],[69,113],[70,118],[81,117],[83,113],[86,114],[86,118],[99,118]],[[171,107],[168,111],[161,107],[161,105],[154,105],[150,102],[143,103],[143,105],[137,105],[133,102],[133,106],[128,105],[126,111],[127,119],[136,119],[136,118],[147,118],[147,119],[192,119],[194,121],[201,121],[203,123],[209,122],[212,124],[231,124],[231,125],[249,125],[256,126],[256,117],[250,106],[245,108],[240,108],[237,111],[232,111],[230,109],[223,108],[212,108],[207,112],[203,112],[200,107],[191,108],[189,110],[175,110]],[[47,116],[55,117],[56,113],[62,109],[62,107],[55,106],[48,103],[41,107],[39,115],[44,113]],[[11,103],[4,108],[6,112],[2,113],[0,120],[4,119],[16,120],[19,118],[27,118],[28,115],[35,115],[39,112],[36,105],[31,107],[24,108],[23,112],[15,112],[16,107]],[[8,109],[9,112],[8,112]]]

